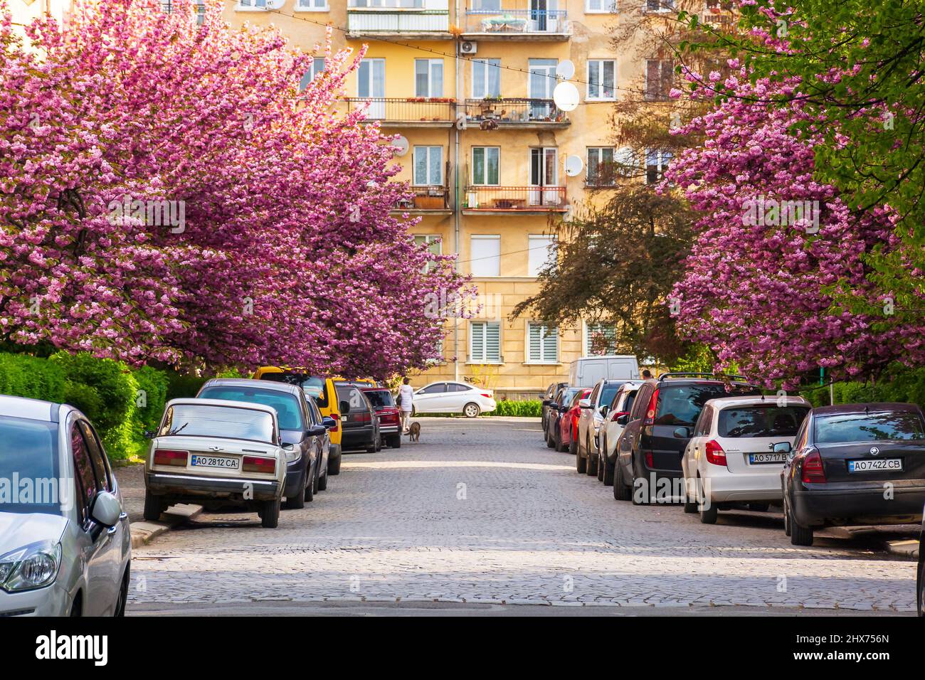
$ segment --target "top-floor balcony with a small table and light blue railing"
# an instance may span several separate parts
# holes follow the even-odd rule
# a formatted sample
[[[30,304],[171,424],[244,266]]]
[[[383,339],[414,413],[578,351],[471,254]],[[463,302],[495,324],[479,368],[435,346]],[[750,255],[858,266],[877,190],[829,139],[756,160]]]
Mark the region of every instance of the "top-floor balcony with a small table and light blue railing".
[[[466,7],[464,40],[568,40],[564,9],[473,9]]]

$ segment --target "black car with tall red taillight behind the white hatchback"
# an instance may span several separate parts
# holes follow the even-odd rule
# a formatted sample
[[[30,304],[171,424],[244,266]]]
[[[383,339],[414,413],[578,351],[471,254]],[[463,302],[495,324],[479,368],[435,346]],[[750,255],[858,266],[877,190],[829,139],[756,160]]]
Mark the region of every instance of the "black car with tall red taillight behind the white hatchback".
[[[679,428],[694,427],[704,404],[711,399],[760,396],[761,391],[743,382],[744,379],[664,373],[643,382],[620,438],[614,468],[614,498],[645,504],[653,500],[661,478],[681,477],[681,457],[689,437],[681,436]],[[640,491],[633,493],[637,484]]]

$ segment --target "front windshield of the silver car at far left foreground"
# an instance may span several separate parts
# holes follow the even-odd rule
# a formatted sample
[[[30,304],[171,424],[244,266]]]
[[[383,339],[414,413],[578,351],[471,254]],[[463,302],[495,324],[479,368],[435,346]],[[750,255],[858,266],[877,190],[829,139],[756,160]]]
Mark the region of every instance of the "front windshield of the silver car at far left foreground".
[[[0,513],[61,514],[57,424],[0,417]]]

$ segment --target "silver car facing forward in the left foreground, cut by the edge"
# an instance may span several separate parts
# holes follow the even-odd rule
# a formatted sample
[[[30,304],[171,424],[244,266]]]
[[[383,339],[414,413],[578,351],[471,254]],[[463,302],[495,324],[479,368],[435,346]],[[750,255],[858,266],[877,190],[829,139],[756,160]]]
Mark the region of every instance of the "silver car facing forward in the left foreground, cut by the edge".
[[[0,479],[17,478],[33,493],[0,500],[0,616],[123,616],[129,515],[87,417],[0,396]]]

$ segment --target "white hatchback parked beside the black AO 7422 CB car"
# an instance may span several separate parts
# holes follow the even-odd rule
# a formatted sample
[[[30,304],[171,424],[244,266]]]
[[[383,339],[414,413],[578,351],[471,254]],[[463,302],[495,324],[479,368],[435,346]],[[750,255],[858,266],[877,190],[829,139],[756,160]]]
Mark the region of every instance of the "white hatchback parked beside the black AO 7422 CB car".
[[[700,521],[712,525],[718,511],[733,504],[763,512],[781,502],[786,454],[772,451],[773,445],[792,445],[811,408],[802,397],[786,399],[722,397],[706,403],[681,461],[685,513],[700,513]],[[691,435],[691,428],[679,429]]]

